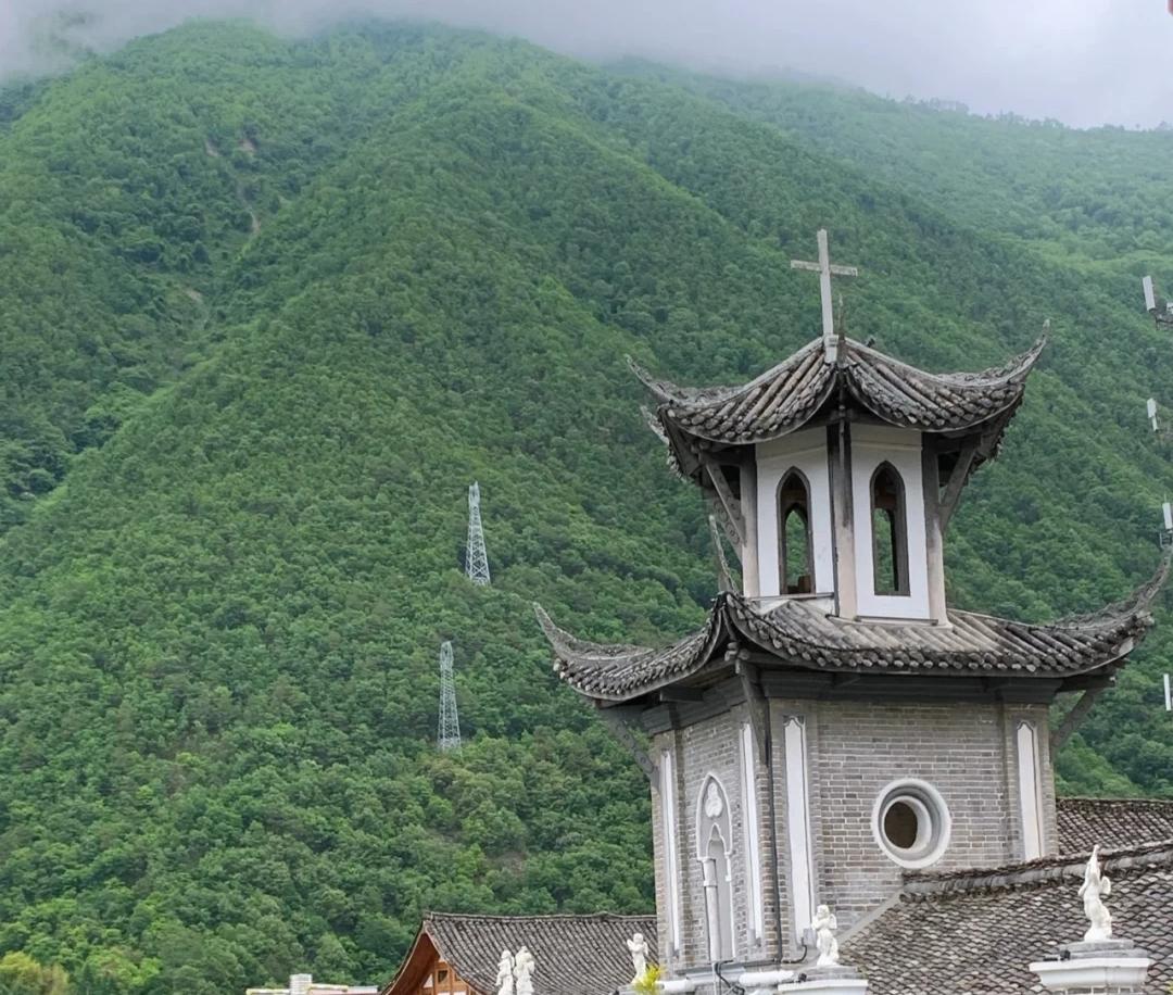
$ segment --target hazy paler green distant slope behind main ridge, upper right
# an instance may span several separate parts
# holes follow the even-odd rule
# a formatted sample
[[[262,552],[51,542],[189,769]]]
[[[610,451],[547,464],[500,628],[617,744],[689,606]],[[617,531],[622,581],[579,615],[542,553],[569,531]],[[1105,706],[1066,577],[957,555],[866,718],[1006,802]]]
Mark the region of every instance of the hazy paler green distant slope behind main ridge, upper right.
[[[713,79],[636,61],[616,68],[775,124],[1065,265],[1126,260],[1135,269],[1167,265],[1173,255],[1173,177],[1166,167],[1173,127],[1078,130],[849,88]]]

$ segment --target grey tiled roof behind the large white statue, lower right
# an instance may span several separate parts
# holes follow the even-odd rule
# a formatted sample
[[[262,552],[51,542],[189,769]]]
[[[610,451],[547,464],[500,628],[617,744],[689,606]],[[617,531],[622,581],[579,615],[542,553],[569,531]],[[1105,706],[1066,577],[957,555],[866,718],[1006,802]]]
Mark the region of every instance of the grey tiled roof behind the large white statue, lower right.
[[[1082,940],[1086,854],[997,871],[907,874],[891,908],[842,945],[870,995],[1001,995],[1042,990],[1032,961]],[[1104,853],[1118,938],[1148,952],[1145,995],[1173,982],[1173,840]]]

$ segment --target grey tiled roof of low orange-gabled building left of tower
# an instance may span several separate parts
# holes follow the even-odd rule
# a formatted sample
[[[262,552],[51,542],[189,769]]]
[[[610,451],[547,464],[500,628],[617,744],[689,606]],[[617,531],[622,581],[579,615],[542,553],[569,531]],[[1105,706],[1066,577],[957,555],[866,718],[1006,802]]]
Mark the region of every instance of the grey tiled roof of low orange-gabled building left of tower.
[[[626,941],[643,933],[655,953],[653,915],[462,915],[428,913],[420,932],[477,991],[496,990],[502,950],[534,955],[541,995],[610,995],[631,981]]]

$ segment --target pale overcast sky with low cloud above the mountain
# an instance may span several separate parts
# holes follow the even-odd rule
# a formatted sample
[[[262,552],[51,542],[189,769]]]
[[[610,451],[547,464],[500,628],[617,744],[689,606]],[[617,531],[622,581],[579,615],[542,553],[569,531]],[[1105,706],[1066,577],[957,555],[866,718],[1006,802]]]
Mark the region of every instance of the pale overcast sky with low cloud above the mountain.
[[[109,48],[197,15],[285,32],[345,14],[426,16],[586,57],[725,73],[798,69],[880,94],[1071,124],[1173,121],[1169,0],[0,0],[0,76],[38,69],[46,19],[86,12]]]

